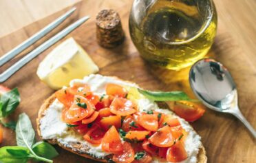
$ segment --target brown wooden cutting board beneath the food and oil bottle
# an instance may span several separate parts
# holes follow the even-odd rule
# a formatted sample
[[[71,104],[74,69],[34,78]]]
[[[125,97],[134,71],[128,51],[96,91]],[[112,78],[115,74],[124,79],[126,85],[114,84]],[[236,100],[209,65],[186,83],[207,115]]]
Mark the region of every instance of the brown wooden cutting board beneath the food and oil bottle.
[[[91,15],[87,23],[76,29],[66,38],[72,36],[89,53],[95,63],[100,67],[99,74],[118,76],[125,80],[131,80],[138,83],[141,87],[151,90],[183,90],[191,97],[193,93],[189,87],[188,72],[189,68],[180,72],[173,72],[166,69],[160,69],[147,64],[140,58],[136,48],[131,42],[128,29],[129,9],[131,1],[103,1],[87,0],[77,3],[76,13],[65,21],[61,27],[57,28],[51,34],[47,34],[44,39],[33,45],[29,50],[38,46],[40,43],[50,38],[67,24],[87,14]],[[122,19],[122,27],[125,30],[125,42],[112,50],[104,49],[96,43],[96,13],[102,9],[111,8],[118,10]],[[0,38],[0,55],[11,50],[35,32],[43,28],[58,16],[63,14],[62,10],[52,14],[45,19],[36,21],[21,30]],[[65,38],[65,39],[66,39]],[[64,41],[65,39],[61,40]],[[59,43],[61,43],[59,41]],[[21,93],[21,104],[10,119],[17,120],[19,113],[25,112],[30,116],[34,129],[36,129],[36,116],[40,105],[54,91],[42,83],[36,76],[36,68],[43,58],[55,47],[51,47],[35,58],[31,63],[25,65],[17,74],[14,74],[4,85],[13,88],[18,87]],[[29,52],[27,50],[26,52]],[[21,58],[20,54],[7,65],[0,68],[3,72],[6,67],[12,65]],[[231,39],[231,36],[222,26],[222,20],[219,20],[219,26],[215,43],[208,56],[217,59],[228,67],[233,75],[239,92],[239,106],[247,120],[256,128],[256,68],[255,63],[250,63],[250,58],[242,53],[239,46]],[[255,162],[256,143],[252,135],[247,131],[244,125],[236,118],[230,115],[223,115],[206,110],[204,116],[197,122],[191,123],[196,131],[202,136],[202,142],[206,148],[209,162]],[[15,145],[15,134],[10,129],[4,129],[4,140],[0,146]],[[39,140],[38,136],[37,139]],[[58,146],[60,153],[54,162],[95,162],[83,157],[67,152]]]

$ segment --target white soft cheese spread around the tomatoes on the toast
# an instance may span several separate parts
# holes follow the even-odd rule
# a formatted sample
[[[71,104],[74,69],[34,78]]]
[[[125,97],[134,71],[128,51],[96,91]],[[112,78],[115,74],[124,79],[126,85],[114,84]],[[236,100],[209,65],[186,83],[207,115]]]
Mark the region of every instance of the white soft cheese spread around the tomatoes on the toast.
[[[114,83],[128,87],[138,87],[138,85],[136,84],[118,80],[115,77],[101,76],[98,74],[86,76],[85,78],[83,78],[83,80],[72,80],[70,82],[70,85],[83,85],[85,83],[89,85],[94,94],[98,95],[106,93],[105,87],[107,83]],[[70,130],[65,122],[61,121],[61,110],[63,109],[63,107],[64,106],[60,102],[58,102],[58,100],[55,100],[52,105],[50,105],[50,108],[45,111],[45,116],[40,121],[40,129],[43,139],[57,139],[58,142],[67,145],[79,142],[83,146],[89,147],[89,151],[87,151],[87,153],[89,153],[90,155],[94,155],[98,158],[109,155],[109,153],[105,153],[104,151],[102,151],[101,145],[93,146],[89,142],[86,142],[85,140],[83,140],[81,135]],[[140,111],[156,110],[161,113],[173,114],[173,112],[168,109],[160,109],[155,102],[147,98],[142,98],[138,100],[138,109]],[[182,128],[188,133],[185,140],[185,150],[188,158],[180,163],[196,163],[198,151],[202,146],[202,143],[200,142],[201,138],[197,133],[195,133],[195,131],[188,122],[186,122],[182,118],[179,118],[178,116],[177,118],[178,120],[180,120]],[[153,162],[158,163],[159,161],[154,158]]]

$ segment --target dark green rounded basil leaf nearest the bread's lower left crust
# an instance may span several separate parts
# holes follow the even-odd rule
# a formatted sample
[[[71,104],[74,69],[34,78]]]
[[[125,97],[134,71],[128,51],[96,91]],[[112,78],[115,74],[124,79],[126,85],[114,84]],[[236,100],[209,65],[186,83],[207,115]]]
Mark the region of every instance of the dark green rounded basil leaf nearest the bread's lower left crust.
[[[47,159],[52,159],[58,155],[56,149],[54,149],[54,147],[47,142],[36,142],[36,144],[32,146],[32,150],[34,153],[36,153],[36,155],[45,157]]]

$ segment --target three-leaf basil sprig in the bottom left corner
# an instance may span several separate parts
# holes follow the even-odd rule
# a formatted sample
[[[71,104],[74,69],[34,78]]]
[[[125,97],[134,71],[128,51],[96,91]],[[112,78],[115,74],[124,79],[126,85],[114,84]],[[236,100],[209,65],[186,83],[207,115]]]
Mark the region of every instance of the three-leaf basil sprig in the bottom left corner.
[[[47,142],[35,142],[35,133],[30,118],[25,113],[19,115],[16,126],[16,139],[18,146],[3,146],[0,148],[0,162],[25,163],[33,159],[36,161],[53,162],[58,155],[54,147]]]

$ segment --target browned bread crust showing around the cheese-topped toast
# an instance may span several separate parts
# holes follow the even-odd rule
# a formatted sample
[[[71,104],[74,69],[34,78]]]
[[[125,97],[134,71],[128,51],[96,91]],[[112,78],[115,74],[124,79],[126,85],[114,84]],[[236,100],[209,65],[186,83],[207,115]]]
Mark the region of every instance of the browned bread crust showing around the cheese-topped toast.
[[[41,120],[41,118],[43,118],[43,116],[45,116],[45,111],[50,108],[49,106],[52,105],[52,102],[54,102],[55,99],[56,99],[56,96],[53,94],[52,96],[47,98],[47,100],[45,100],[45,102],[39,109],[39,114],[38,114],[38,118],[36,119],[36,124],[37,124],[37,131],[41,138],[42,138],[42,136],[41,136],[41,130],[40,130],[40,125],[41,125],[40,120]],[[92,155],[87,154],[87,151],[89,150],[89,146],[87,146],[87,148],[85,148],[85,146],[81,146],[80,143],[68,144],[68,145],[61,144],[61,142],[58,142],[58,140],[53,140],[53,139],[46,140],[46,141],[49,142],[50,144],[58,144],[63,149],[70,151],[72,153],[76,153],[77,155],[80,155],[82,157],[87,157],[89,159],[96,160],[99,162],[107,162],[107,157],[105,159],[98,159],[96,157],[93,157]],[[204,149],[204,146],[200,147],[197,158],[198,158],[198,163],[206,163],[207,162],[206,151]]]

